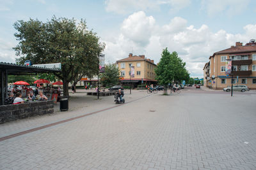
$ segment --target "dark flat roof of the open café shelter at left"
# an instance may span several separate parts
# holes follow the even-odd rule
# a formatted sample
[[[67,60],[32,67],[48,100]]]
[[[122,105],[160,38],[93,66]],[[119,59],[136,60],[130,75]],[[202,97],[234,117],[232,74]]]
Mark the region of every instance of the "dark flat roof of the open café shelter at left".
[[[8,74],[13,74],[13,75],[61,72],[60,69],[49,69],[49,68],[37,67],[37,66],[25,66],[25,65],[13,64],[8,62],[0,62],[0,68],[3,70],[7,70]]]

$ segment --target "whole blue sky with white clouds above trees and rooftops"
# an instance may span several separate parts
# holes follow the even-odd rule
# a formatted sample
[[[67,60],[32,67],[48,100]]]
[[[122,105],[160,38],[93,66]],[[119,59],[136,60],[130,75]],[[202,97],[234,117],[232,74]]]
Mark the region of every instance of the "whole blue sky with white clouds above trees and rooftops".
[[[54,15],[86,20],[106,44],[106,63],[129,53],[157,63],[168,48],[200,78],[214,52],[256,39],[255,0],[0,0],[0,62],[19,58],[15,22],[47,22]]]

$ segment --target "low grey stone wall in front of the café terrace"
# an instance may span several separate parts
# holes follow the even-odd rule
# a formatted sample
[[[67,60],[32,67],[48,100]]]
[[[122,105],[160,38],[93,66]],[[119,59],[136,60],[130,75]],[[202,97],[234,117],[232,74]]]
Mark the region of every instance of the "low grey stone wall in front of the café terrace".
[[[0,123],[54,112],[53,101],[35,101],[0,106]]]

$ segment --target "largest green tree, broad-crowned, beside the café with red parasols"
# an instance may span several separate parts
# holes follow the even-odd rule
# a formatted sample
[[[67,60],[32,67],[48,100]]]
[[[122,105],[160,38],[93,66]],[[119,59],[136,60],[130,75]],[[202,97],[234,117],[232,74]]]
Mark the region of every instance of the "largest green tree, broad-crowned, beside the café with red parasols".
[[[64,96],[68,96],[68,83],[79,75],[96,74],[98,55],[104,50],[96,33],[89,31],[86,22],[78,24],[74,18],[52,17],[47,22],[30,19],[15,22],[15,37],[19,44],[14,48],[20,58],[33,64],[61,62],[61,73],[54,73],[63,81]]]

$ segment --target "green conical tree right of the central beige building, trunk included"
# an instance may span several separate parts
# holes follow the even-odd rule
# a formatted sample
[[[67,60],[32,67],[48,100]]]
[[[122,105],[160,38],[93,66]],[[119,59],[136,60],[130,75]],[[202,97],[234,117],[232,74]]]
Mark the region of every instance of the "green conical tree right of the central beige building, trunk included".
[[[189,73],[186,69],[186,63],[178,56],[177,52],[170,53],[165,48],[161,54],[161,59],[156,72],[156,80],[159,84],[164,85],[164,94],[167,94],[166,87],[173,81],[180,83],[181,80],[189,80]]]

